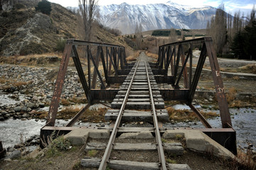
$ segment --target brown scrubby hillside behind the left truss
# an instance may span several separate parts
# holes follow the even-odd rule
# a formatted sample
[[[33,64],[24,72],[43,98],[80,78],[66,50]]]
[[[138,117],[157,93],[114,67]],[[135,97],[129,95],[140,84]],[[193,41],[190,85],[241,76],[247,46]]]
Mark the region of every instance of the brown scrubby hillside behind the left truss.
[[[33,0],[28,0],[33,1]],[[54,52],[60,38],[79,38],[77,17],[59,4],[51,3],[50,16],[35,11],[28,1],[19,0],[11,6],[1,4],[0,55],[28,55]],[[35,1],[33,1],[35,2]],[[34,3],[36,4],[36,3]],[[96,27],[96,42],[126,45],[120,38]]]

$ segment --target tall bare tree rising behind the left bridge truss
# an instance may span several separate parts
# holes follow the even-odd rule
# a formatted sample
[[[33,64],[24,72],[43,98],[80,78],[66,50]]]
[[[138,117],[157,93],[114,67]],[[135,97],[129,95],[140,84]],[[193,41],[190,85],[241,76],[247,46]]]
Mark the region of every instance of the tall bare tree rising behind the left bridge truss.
[[[91,40],[91,28],[94,19],[97,17],[99,8],[97,8],[98,0],[78,0],[79,14],[82,18],[84,29],[84,40]]]

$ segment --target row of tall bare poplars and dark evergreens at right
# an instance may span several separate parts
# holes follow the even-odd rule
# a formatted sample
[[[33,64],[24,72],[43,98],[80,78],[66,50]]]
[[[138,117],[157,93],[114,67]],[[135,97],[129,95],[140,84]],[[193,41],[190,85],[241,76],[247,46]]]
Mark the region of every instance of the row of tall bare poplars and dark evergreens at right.
[[[207,23],[206,34],[213,38],[218,57],[256,60],[255,6],[250,15],[245,16],[238,11],[232,16],[221,4],[216,16]]]

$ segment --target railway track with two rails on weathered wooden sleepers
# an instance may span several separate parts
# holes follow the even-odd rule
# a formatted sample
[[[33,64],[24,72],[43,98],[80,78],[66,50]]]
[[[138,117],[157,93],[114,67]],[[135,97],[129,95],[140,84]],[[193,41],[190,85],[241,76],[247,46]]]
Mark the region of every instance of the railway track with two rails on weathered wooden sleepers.
[[[167,122],[169,119],[168,113],[165,110],[165,103],[160,95],[154,75],[148,64],[147,57],[143,53],[134,64],[130,74],[123,82],[121,90],[111,103],[111,108],[105,115],[106,120],[113,121],[113,129],[111,137],[107,145],[100,147],[106,148],[102,159],[87,159],[85,164],[99,164],[99,169],[106,169],[108,164],[111,164],[111,169],[189,169],[189,166],[183,164],[167,164],[165,160],[165,152],[174,149],[175,154],[183,153],[181,144],[173,143],[171,145],[163,145],[160,134],[161,122]],[[121,127],[121,123],[126,122],[148,122],[152,123],[152,128],[126,128]],[[122,132],[149,132],[145,140],[134,141],[128,143],[126,138],[117,140],[117,134]],[[155,139],[150,136],[154,134]],[[145,133],[147,134],[147,133]],[[90,144],[89,144],[90,145]],[[96,147],[99,147],[97,145]],[[95,146],[89,146],[87,149],[94,149]],[[164,150],[165,147],[165,150]],[[99,149],[99,148],[98,148]],[[113,150],[122,150],[121,155],[128,155],[131,150],[136,152],[145,152],[142,156],[134,154],[133,159],[140,157],[148,157],[147,154],[154,154],[154,159],[149,159],[153,162],[134,162],[126,160],[112,160],[111,152]],[[127,156],[128,157],[128,156]],[[149,156],[150,157],[150,156]],[[152,155],[151,155],[152,157]],[[100,162],[100,163],[99,163]]]

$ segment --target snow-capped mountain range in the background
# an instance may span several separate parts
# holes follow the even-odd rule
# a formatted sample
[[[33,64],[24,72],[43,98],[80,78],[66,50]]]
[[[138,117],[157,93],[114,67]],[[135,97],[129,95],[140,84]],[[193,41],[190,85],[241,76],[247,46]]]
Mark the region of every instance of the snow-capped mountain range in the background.
[[[136,23],[143,31],[169,28],[203,29],[215,15],[216,8],[205,6],[192,8],[168,1],[166,4],[100,6],[101,23],[117,28],[123,34],[135,32]]]

